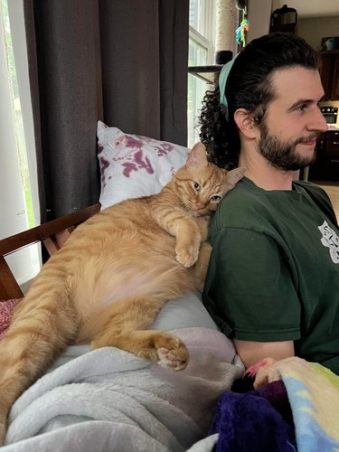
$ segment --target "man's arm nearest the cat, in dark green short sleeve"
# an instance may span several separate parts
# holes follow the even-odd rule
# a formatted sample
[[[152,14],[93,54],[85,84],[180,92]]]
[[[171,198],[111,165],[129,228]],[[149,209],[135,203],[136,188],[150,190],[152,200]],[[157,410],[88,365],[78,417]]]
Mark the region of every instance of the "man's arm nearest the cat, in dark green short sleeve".
[[[246,367],[295,355],[301,306],[293,270],[267,234],[222,228],[212,236],[203,303]]]

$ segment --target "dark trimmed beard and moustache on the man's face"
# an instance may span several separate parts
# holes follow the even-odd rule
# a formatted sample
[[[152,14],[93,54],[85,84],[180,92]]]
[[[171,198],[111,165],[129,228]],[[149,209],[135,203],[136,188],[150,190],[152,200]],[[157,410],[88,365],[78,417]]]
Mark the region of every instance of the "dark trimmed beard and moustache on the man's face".
[[[296,147],[299,143],[314,140],[317,137],[316,133],[295,141],[280,141],[278,137],[269,135],[265,122],[259,128],[261,132],[259,152],[270,165],[283,171],[297,171],[315,161],[315,153],[311,157],[297,155]]]

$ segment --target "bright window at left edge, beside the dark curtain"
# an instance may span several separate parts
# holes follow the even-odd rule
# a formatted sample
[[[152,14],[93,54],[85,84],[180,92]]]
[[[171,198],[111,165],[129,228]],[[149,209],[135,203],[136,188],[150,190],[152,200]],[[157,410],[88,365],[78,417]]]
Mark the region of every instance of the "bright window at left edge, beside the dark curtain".
[[[40,219],[24,7],[22,0],[0,2],[0,239],[3,239],[33,227]],[[6,261],[23,285],[41,267],[36,245],[9,256]]]

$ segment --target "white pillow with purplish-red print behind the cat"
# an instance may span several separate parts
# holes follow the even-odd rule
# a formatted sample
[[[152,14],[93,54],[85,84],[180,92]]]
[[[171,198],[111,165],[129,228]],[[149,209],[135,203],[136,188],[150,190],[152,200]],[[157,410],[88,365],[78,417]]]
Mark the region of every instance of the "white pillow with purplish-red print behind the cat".
[[[190,153],[187,147],[125,134],[101,121],[97,134],[101,209],[127,198],[159,193]]]

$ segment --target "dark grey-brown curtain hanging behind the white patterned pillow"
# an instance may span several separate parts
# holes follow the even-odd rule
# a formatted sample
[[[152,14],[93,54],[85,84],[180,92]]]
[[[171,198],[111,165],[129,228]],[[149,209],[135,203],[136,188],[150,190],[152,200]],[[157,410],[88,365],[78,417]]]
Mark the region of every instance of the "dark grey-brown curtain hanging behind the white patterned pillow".
[[[188,0],[25,0],[42,222],[99,200],[97,121],[186,145]]]

